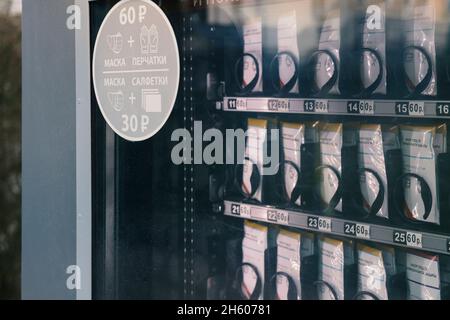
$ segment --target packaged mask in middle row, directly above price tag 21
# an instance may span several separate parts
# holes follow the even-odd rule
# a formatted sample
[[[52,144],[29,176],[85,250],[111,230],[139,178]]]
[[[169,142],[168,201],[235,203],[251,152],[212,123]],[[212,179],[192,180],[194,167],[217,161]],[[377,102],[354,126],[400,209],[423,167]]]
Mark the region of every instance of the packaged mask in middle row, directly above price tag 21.
[[[262,201],[263,169],[264,169],[264,144],[267,140],[267,120],[248,120],[247,145],[245,150],[245,161],[243,166],[242,192],[249,199]],[[258,175],[253,172],[254,167],[258,169]],[[254,177],[258,181],[252,181]]]

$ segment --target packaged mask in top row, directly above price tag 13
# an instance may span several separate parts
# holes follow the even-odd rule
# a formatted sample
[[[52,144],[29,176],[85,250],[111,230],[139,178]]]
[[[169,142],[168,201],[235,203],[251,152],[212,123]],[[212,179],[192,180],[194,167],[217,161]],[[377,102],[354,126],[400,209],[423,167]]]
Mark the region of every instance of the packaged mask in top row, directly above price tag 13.
[[[315,91],[324,93],[340,94],[339,91],[339,63],[341,48],[341,17],[338,4],[327,10],[327,16],[323,23],[319,51],[316,58],[314,73]]]

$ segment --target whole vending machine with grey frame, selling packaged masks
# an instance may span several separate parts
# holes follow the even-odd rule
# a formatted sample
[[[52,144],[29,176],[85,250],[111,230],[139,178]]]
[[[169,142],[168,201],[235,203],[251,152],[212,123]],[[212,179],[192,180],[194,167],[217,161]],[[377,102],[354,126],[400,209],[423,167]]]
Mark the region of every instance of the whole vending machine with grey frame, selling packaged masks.
[[[450,298],[448,0],[25,0],[24,298]]]

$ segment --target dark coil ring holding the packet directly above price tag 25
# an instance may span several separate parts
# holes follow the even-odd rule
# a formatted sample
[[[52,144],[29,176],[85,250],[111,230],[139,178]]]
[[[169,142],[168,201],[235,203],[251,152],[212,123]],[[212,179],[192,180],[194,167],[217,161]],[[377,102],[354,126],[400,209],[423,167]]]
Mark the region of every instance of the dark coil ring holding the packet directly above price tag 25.
[[[395,207],[396,207],[396,211],[399,213],[400,217],[405,220],[408,221],[410,223],[415,223],[415,224],[422,224],[423,221],[418,221],[416,219],[413,218],[409,218],[404,214],[403,208],[401,207],[402,204],[405,204],[404,201],[404,195],[400,196],[400,191],[402,191],[402,186],[403,186],[403,182],[405,180],[405,178],[416,178],[417,180],[419,180],[420,183],[420,188],[421,188],[421,195],[422,195],[422,200],[425,206],[425,213],[423,215],[423,220],[426,222],[428,220],[428,218],[430,217],[431,214],[431,209],[433,208],[433,196],[431,194],[431,189],[430,186],[428,185],[428,183],[425,181],[424,178],[422,178],[421,176],[414,174],[414,173],[406,173],[404,175],[402,175],[401,177],[399,177],[397,179],[397,182],[395,183],[395,188],[394,188],[394,199],[395,199]],[[402,201],[399,201],[400,199],[402,199]]]

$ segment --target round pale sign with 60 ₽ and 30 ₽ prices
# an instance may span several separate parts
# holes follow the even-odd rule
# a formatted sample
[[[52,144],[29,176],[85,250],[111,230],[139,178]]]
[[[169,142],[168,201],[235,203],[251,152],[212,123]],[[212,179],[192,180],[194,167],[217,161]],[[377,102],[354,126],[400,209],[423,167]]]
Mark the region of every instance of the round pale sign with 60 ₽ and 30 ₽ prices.
[[[169,118],[178,93],[177,40],[164,12],[150,0],[123,0],[103,21],[93,57],[94,90],[109,126],[143,141]]]

